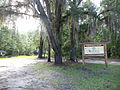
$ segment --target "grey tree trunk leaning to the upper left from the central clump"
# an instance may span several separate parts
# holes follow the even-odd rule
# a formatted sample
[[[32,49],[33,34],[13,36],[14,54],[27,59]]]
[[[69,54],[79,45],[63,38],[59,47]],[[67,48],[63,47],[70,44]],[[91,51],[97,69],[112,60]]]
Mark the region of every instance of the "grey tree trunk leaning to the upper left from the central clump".
[[[55,52],[55,64],[61,65],[62,64],[62,52],[61,52],[60,45],[57,40],[58,38],[54,35],[52,31],[53,27],[51,27],[52,25],[50,24],[50,20],[45,14],[45,11],[39,0],[36,0],[36,5],[37,5],[38,11],[40,12],[40,18],[42,19],[43,24],[46,26],[46,30],[48,32],[52,48]]]

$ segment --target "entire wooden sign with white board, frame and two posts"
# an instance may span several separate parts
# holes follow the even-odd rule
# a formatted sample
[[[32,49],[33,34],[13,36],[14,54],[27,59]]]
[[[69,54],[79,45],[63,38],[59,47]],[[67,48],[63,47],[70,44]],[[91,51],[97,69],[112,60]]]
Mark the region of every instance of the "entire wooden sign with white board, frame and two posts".
[[[85,64],[85,57],[101,56],[105,57],[105,66],[107,63],[107,42],[84,42],[82,44],[82,60]]]

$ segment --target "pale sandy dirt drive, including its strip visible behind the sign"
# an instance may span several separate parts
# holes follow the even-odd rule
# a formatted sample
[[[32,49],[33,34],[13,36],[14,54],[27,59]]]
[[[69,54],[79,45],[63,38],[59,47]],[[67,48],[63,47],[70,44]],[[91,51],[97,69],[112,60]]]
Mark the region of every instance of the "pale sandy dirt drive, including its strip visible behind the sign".
[[[62,77],[67,81],[68,77],[55,71],[42,71],[29,67],[29,64],[45,63],[45,60],[35,59],[8,59],[0,60],[0,90],[72,90],[69,84],[55,88],[51,84],[56,78]],[[98,60],[86,60],[87,63],[104,63]],[[109,62],[120,65],[120,62]],[[57,81],[56,81],[57,82]]]

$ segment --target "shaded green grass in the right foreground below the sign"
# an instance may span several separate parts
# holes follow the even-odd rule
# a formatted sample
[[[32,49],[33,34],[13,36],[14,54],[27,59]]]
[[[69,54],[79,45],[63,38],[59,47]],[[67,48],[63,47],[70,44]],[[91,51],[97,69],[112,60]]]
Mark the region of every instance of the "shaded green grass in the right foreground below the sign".
[[[60,73],[52,85],[60,88],[61,84],[72,85],[75,90],[120,90],[120,65],[109,65],[105,68],[103,64],[80,63],[67,66],[55,66],[53,64],[36,64],[35,69],[43,71],[54,71]]]

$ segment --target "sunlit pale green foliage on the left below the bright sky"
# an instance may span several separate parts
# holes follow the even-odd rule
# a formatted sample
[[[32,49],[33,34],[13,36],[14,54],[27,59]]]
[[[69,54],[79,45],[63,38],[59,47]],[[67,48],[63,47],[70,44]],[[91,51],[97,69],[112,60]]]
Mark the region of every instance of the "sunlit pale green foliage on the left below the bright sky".
[[[6,55],[32,55],[38,43],[38,31],[21,35],[8,27],[0,29],[0,50],[6,51]]]

